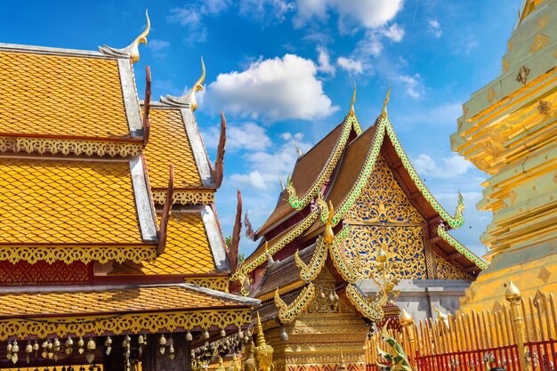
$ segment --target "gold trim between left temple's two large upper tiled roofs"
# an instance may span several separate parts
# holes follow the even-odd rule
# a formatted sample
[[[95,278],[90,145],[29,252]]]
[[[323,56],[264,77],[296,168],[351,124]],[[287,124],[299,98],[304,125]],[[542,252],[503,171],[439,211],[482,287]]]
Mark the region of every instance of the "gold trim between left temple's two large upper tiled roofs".
[[[52,155],[138,156],[142,142],[79,141],[65,139],[0,137],[0,152],[51,153]]]

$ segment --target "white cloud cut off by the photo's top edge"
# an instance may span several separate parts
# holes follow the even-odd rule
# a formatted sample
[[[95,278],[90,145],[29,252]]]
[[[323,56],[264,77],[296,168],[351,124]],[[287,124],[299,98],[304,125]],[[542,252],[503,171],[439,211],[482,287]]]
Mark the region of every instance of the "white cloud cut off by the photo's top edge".
[[[295,26],[301,27],[315,18],[325,20],[327,10],[339,14],[341,23],[363,28],[379,28],[402,9],[403,0],[298,0]]]

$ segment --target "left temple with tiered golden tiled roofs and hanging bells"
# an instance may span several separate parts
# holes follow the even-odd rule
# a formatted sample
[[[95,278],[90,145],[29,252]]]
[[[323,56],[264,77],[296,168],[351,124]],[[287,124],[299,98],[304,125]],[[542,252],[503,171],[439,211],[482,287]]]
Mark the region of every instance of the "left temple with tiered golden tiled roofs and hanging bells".
[[[98,52],[0,44],[0,368],[190,369],[251,321],[214,210],[224,131],[213,166],[193,115],[205,69],[151,102],[147,68],[140,101],[149,28]]]

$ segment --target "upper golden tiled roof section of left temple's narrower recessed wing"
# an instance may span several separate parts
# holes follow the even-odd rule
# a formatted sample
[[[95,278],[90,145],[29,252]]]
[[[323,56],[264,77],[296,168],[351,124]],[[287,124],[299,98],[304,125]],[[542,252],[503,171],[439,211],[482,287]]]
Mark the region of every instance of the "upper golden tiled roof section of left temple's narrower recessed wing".
[[[174,188],[202,187],[180,109],[153,107],[149,122],[149,144],[144,153],[150,186],[165,189],[168,186],[168,169],[173,164]]]

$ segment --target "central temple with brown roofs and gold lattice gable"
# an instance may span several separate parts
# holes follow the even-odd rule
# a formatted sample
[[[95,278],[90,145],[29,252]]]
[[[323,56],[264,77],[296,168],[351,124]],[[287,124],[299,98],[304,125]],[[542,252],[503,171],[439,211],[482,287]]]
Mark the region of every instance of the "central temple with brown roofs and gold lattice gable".
[[[366,130],[355,95],[343,122],[300,154],[253,232],[259,247],[231,278],[262,301],[255,311],[278,370],[335,369],[341,351],[348,369],[362,370],[375,327],[390,318],[399,327],[401,309],[455,311],[457,294],[486,267],[448,233],[464,224],[462,197],[452,216],[424,186],[387,115],[389,94]]]

